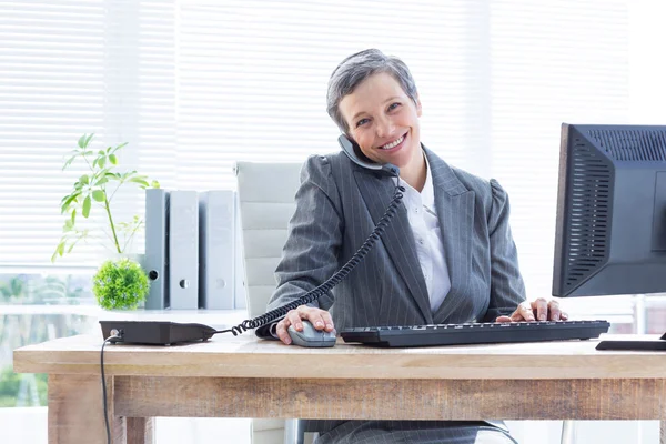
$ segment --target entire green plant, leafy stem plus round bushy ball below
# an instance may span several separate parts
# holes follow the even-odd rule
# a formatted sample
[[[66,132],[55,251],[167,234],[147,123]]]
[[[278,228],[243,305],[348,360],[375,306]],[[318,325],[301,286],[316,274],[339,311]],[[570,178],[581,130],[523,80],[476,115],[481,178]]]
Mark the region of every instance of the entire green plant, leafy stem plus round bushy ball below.
[[[143,229],[143,219],[134,215],[131,221],[119,221],[113,214],[113,198],[120,188],[138,186],[159,188],[158,181],[150,181],[137,171],[118,172],[119,152],[127,145],[93,150],[90,143],[94,134],[83,134],[78,142],[78,148],[64,163],[63,170],[72,163],[83,162],[88,172],[81,175],[73,184],[72,191],[62,198],[60,211],[65,215],[62,228],[62,238],[51,256],[54,262],[59,256],[71,253],[74,246],[91,239],[98,240],[108,246],[109,240],[111,255],[114,259],[105,261],[93,276],[92,292],[98,303],[104,309],[135,309],[148,295],[149,281],[139,261],[132,258],[131,248],[134,235]],[[81,226],[81,219],[89,219],[94,208],[103,211],[108,222],[107,230],[102,233],[91,232]],[[134,255],[135,256],[135,255]]]

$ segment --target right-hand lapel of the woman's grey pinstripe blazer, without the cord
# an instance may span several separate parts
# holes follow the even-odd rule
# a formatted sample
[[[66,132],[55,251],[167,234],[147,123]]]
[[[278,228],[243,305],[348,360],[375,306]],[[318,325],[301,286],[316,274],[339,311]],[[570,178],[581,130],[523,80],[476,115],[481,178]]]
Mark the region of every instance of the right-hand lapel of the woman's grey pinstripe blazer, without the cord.
[[[424,147],[425,149],[425,147]],[[474,230],[474,191],[470,191],[456,178],[443,160],[425,149],[433,178],[435,208],[442,230],[444,255],[451,290],[434,314],[435,322],[456,310],[466,297],[472,271],[472,235]]]

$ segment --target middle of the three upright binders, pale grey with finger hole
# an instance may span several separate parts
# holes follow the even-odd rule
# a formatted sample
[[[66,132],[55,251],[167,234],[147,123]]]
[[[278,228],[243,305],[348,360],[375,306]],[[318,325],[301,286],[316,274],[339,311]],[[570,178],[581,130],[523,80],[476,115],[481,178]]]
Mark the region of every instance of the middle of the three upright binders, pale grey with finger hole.
[[[169,299],[172,310],[199,309],[199,195],[169,193]]]

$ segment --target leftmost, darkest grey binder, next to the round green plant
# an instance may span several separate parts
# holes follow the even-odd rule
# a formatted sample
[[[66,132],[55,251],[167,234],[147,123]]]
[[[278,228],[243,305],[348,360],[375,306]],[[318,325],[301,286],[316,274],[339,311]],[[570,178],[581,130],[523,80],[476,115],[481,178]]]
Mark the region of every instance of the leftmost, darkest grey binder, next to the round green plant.
[[[145,310],[169,307],[169,192],[145,190],[145,272],[150,292]]]

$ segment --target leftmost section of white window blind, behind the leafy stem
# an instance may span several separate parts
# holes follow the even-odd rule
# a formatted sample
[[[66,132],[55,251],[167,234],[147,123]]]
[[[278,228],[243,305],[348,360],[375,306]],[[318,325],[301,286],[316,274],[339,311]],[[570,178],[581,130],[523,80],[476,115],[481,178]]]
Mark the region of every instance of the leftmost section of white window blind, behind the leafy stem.
[[[0,2],[2,263],[49,262],[83,173],[62,172],[64,155],[83,132],[104,137],[105,17],[103,1]]]

